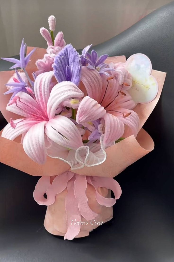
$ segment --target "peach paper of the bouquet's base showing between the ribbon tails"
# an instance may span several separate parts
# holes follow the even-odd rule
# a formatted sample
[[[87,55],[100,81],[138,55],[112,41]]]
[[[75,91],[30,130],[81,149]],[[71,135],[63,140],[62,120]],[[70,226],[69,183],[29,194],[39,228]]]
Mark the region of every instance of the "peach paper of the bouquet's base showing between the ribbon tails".
[[[98,226],[104,224],[105,222],[111,220],[113,218],[113,208],[101,206],[95,199],[94,196],[94,188],[88,184],[86,195],[88,196],[88,205],[89,207],[96,213],[98,213],[97,217],[93,220],[85,220],[83,217],[81,221],[83,222],[80,227],[80,232],[77,237],[86,237],[89,236],[89,233],[97,228]],[[110,198],[111,191],[106,188],[99,188],[99,193],[104,197]],[[56,236],[65,236],[67,232],[67,217],[65,210],[65,197],[67,195],[67,189],[65,189],[60,194],[56,195],[55,203],[47,206],[44,227],[45,229]],[[76,219],[76,215],[74,215],[73,220]],[[76,221],[72,221],[72,225],[74,225]],[[76,226],[76,225],[74,225]],[[78,225],[77,225],[78,226]]]

